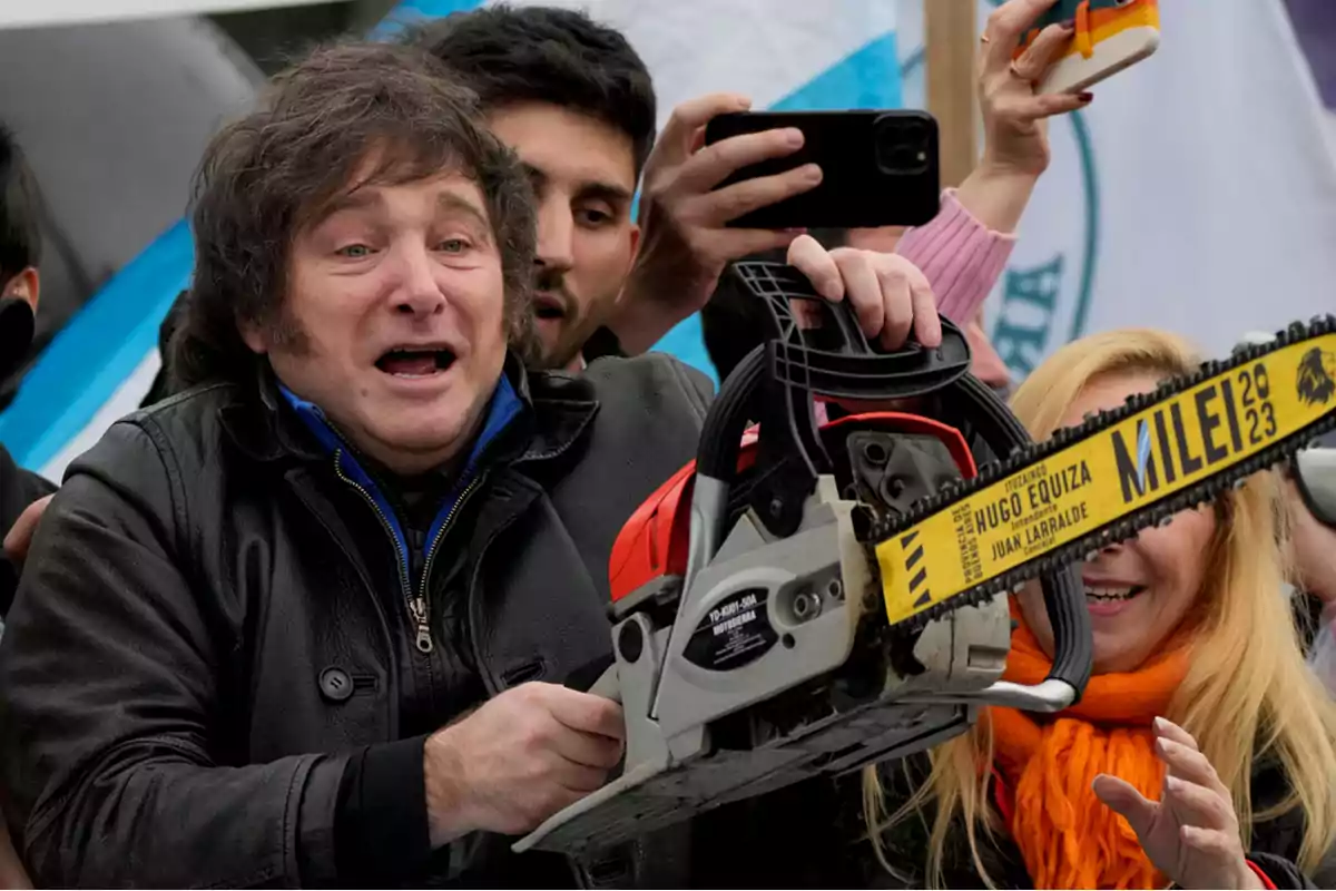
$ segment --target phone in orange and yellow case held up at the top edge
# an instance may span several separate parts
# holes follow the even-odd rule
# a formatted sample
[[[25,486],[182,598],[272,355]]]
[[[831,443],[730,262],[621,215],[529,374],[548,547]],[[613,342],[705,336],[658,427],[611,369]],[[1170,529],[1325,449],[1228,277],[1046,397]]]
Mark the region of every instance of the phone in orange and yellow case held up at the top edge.
[[[1050,24],[1074,21],[1041,94],[1074,94],[1148,57],[1160,45],[1158,0],[1058,0],[1021,39],[1019,56]]]

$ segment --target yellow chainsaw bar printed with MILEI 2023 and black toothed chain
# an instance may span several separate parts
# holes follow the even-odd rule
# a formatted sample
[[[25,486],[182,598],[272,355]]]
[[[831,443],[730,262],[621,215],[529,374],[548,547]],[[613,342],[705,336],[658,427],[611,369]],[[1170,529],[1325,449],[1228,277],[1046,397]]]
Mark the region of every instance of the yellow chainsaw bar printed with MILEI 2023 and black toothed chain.
[[[886,616],[916,627],[1083,560],[1336,426],[1336,318],[1059,430],[872,534]]]

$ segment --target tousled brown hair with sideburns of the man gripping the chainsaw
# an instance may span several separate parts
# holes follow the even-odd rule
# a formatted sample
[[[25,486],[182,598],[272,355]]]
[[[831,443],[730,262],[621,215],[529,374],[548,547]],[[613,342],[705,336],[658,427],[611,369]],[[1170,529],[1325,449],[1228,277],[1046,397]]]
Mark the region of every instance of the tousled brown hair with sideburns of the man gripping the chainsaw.
[[[192,208],[195,277],[172,335],[172,389],[254,374],[258,357],[239,325],[285,331],[293,238],[331,202],[445,170],[482,191],[501,254],[508,339],[528,346],[536,227],[514,155],[481,126],[477,96],[428,53],[345,43],[277,75],[259,108],[204,150]]]

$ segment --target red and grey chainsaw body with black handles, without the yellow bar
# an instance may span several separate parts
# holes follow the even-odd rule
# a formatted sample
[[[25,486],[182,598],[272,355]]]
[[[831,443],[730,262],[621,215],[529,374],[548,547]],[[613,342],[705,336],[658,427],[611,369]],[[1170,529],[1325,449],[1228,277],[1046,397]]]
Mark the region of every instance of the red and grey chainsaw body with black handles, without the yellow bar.
[[[613,663],[591,692],[623,705],[624,767],[517,851],[595,854],[728,801],[937,745],[981,705],[1058,711],[1089,676],[1089,617],[1067,569],[1043,582],[1050,605],[1079,613],[1054,622],[1077,629],[1059,639],[1059,663],[1075,665],[1067,680],[999,680],[1006,598],[907,633],[886,621],[860,514],[904,513],[971,480],[970,443],[921,414],[818,425],[814,397],[949,394],[971,419],[962,426],[1009,454],[1027,442],[1023,429],[969,377],[963,334],[943,319],[941,349],[875,354],[843,306],[823,302],[819,334],[798,330],[790,302],[819,298],[794,270],[739,263],[733,274],[767,301],[775,337],[725,381],[697,461],[631,518],[609,565]]]

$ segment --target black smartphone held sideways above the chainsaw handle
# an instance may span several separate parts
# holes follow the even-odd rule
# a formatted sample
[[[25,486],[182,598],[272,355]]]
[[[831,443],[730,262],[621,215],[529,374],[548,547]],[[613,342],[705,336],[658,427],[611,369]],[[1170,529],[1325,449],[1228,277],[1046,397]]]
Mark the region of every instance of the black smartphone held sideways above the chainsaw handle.
[[[705,126],[705,144],[780,127],[803,131],[787,158],[743,167],[716,188],[802,164],[822,168],[816,188],[729,223],[740,228],[922,226],[941,203],[937,119],[926,111],[736,112]]]

